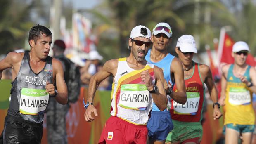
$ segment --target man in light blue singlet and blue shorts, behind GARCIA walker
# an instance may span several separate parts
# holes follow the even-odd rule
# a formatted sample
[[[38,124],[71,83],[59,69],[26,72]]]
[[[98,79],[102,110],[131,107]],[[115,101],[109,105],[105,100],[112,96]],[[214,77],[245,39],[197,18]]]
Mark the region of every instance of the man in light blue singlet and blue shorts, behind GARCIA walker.
[[[173,129],[171,114],[171,98],[185,104],[187,97],[185,91],[183,68],[180,61],[168,53],[168,46],[171,43],[172,31],[167,23],[159,23],[153,29],[152,50],[149,50],[145,59],[150,63],[159,66],[164,71],[165,89],[168,95],[169,107],[160,111],[153,103],[151,117],[147,123],[150,143],[164,144],[169,132]],[[177,85],[179,92],[173,92],[172,88]],[[156,124],[157,123],[157,124]]]

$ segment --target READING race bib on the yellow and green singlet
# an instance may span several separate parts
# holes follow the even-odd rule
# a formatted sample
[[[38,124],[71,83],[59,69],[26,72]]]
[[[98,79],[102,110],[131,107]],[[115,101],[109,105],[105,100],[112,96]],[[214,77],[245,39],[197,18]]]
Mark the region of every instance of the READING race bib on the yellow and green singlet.
[[[245,88],[230,88],[228,102],[233,105],[247,105],[251,103],[249,90]]]

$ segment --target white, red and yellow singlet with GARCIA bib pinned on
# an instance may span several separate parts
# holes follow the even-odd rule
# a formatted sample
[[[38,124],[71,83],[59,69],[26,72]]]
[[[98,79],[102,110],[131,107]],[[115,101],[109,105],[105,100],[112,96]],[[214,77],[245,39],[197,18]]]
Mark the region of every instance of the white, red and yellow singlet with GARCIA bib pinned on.
[[[126,58],[118,59],[118,67],[111,92],[112,116],[135,125],[146,125],[152,109],[152,95],[141,80],[142,71],[148,71],[155,84],[154,65],[147,63],[141,70],[130,68]]]

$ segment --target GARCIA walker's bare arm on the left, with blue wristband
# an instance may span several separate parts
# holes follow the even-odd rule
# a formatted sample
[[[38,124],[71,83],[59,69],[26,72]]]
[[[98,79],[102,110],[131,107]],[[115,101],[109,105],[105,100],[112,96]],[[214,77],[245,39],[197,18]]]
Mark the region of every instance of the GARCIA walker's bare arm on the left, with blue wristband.
[[[117,66],[118,66],[118,59],[109,60],[104,64],[102,71],[99,71],[92,76],[89,87],[88,87],[87,102],[93,103],[94,95],[100,82],[106,79],[107,77],[109,77],[110,75],[115,76],[117,71]],[[91,116],[91,113],[94,113],[95,116],[98,115],[97,109],[90,104],[85,110],[85,114],[84,114],[85,121],[90,122],[95,119],[94,117]]]

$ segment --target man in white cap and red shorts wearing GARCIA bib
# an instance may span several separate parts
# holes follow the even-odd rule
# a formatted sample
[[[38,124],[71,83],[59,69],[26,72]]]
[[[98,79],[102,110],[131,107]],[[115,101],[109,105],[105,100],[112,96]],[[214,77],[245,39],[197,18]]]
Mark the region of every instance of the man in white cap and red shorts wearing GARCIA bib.
[[[111,117],[102,131],[99,144],[145,144],[147,122],[152,102],[163,111],[167,106],[164,91],[164,76],[161,68],[145,60],[152,45],[151,32],[145,26],[136,26],[131,31],[129,57],[107,61],[102,71],[92,76],[85,103],[85,120],[97,116],[93,97],[99,83],[112,75]]]

